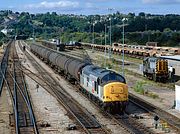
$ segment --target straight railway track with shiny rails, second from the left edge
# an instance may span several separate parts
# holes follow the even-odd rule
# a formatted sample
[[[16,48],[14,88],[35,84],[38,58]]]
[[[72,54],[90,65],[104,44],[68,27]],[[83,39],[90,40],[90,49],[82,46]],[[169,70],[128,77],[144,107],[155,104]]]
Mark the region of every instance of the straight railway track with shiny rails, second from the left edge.
[[[14,109],[14,113],[10,117],[10,124],[15,126],[16,134],[38,134],[24,75],[18,69],[20,62],[15,49],[15,42],[13,41],[10,45],[7,73],[4,77]]]

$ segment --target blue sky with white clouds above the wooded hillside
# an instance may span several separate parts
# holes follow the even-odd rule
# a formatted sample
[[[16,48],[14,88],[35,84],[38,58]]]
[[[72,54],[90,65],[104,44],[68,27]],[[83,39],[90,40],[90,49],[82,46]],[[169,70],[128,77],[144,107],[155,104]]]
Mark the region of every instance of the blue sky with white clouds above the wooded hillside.
[[[113,11],[108,10],[113,9]],[[0,9],[31,13],[107,14],[139,12],[180,14],[180,0],[1,0]]]

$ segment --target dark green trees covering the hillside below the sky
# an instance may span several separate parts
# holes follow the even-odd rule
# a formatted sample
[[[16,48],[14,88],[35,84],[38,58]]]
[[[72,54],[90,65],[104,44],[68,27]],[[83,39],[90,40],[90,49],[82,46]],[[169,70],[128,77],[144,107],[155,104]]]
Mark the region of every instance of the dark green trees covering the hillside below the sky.
[[[0,24],[4,22],[8,12],[1,11]],[[72,40],[92,42],[93,22],[95,43],[105,44],[105,24],[110,25],[108,18],[112,18],[112,42],[122,42],[122,18],[128,18],[125,26],[125,43],[142,44],[147,41],[159,42],[160,46],[177,46],[180,42],[180,15],[152,15],[140,12],[112,15],[58,15],[55,12],[44,14],[30,14],[28,12],[15,13],[17,23],[12,23],[9,28],[14,29],[14,34],[33,35],[33,29],[37,38],[61,38],[64,42]],[[107,28],[107,44],[109,44],[109,28]]]

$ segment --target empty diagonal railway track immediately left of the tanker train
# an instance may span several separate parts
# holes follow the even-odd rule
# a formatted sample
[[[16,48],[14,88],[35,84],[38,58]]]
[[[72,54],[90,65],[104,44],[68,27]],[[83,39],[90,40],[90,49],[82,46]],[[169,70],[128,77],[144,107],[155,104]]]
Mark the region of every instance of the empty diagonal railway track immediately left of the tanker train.
[[[19,44],[21,50],[22,45]],[[76,100],[74,100],[65,89],[47,72],[28,52],[24,52],[26,57],[32,61],[32,65],[38,71],[40,76],[24,68],[24,72],[32,79],[40,79],[42,87],[57,98],[59,103],[78,121],[85,132],[89,134],[107,134],[109,133],[85,108],[83,108]],[[42,73],[43,72],[43,73]],[[31,75],[33,74],[33,75]],[[46,83],[47,87],[43,86]]]

